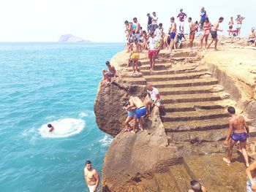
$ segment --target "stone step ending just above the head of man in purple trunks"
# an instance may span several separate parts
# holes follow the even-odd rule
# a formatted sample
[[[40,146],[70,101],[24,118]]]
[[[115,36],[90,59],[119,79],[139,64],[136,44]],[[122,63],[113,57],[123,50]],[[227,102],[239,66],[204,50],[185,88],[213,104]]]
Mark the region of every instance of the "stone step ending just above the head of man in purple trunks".
[[[178,104],[162,104],[164,112],[186,112],[195,110],[216,110],[223,109],[225,104],[222,101],[199,101]]]

